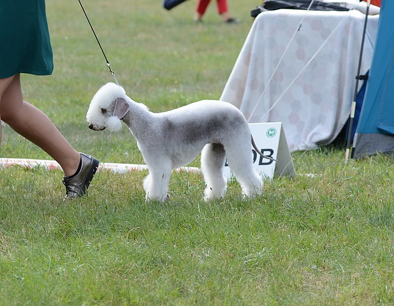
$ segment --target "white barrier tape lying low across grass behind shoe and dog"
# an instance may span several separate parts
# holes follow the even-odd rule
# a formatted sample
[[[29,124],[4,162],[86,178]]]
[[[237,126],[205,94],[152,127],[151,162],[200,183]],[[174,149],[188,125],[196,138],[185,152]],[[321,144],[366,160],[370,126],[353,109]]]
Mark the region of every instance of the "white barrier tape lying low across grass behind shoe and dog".
[[[23,159],[23,158],[0,158],[0,169],[11,166],[19,166],[27,169],[34,167],[44,167],[46,170],[57,170],[62,167],[56,161],[51,160],[36,160],[36,159]],[[97,170],[111,170],[115,173],[127,173],[133,171],[142,171],[147,169],[146,165],[138,164],[117,164],[117,163],[100,163]],[[175,171],[199,172],[197,167],[180,167]]]

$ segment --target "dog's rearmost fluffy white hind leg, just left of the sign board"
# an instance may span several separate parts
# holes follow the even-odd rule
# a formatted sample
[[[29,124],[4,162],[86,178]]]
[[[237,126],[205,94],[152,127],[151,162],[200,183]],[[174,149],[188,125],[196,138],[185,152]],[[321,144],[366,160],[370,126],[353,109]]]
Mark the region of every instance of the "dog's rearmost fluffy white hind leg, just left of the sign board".
[[[261,194],[263,182],[253,168],[251,149],[245,149],[249,146],[241,146],[242,150],[226,147],[226,157],[228,166],[241,185],[242,193],[247,197],[255,197]]]

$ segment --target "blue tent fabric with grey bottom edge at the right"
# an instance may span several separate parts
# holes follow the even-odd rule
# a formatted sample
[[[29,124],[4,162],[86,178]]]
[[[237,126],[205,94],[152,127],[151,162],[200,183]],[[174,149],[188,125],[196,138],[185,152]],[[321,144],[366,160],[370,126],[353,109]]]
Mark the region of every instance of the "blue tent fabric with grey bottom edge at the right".
[[[354,138],[354,158],[394,154],[394,1],[383,0],[369,80]]]

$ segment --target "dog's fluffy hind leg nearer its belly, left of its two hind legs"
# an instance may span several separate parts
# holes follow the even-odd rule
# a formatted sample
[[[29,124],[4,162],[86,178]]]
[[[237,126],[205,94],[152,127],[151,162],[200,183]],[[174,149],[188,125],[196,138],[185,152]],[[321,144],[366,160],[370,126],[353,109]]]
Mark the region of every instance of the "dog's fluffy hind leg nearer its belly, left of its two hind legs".
[[[211,200],[224,196],[227,180],[223,176],[225,152],[223,145],[209,143],[201,151],[201,170],[206,184],[204,199]]]

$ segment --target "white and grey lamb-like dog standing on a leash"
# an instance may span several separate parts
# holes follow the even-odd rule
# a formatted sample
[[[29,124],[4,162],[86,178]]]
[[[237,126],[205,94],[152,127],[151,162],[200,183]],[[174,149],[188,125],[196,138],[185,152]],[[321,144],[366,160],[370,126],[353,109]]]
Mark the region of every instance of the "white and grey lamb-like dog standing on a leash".
[[[171,170],[192,162],[200,152],[205,200],[224,196],[225,157],[243,194],[261,194],[263,182],[252,166],[248,123],[241,111],[229,103],[202,100],[152,113],[144,104],[130,99],[122,87],[108,83],[93,96],[86,119],[95,131],[120,130],[120,120],[128,125],[149,170],[144,180],[146,199],[169,198]]]

